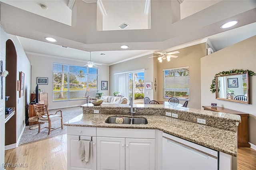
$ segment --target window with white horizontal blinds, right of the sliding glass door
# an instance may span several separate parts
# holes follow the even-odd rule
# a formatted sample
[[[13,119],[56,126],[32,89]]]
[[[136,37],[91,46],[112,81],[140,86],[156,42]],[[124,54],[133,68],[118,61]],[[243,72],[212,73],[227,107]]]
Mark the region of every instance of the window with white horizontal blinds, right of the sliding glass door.
[[[164,98],[189,99],[189,68],[165,69]]]

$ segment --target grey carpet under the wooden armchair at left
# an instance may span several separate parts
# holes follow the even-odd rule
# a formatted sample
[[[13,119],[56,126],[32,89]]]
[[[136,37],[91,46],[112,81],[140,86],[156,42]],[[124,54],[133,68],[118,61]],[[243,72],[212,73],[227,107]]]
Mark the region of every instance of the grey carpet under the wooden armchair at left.
[[[78,115],[82,114],[82,108],[81,107],[70,107],[70,108],[64,108],[64,109],[54,109],[54,110],[49,110],[49,113],[54,114],[56,111],[61,110],[62,111],[62,117],[63,117],[63,123],[77,117]],[[25,130],[20,138],[19,146],[23,144],[28,144],[31,142],[36,142],[38,140],[44,140],[47,138],[52,138],[55,136],[59,136],[62,134],[67,133],[67,128],[64,126],[63,129],[58,128],[56,130],[53,130],[50,132],[48,135],[48,128],[43,128],[43,127],[48,127],[48,123],[41,124],[41,130],[40,133],[38,133],[38,128],[36,129],[30,129],[30,126],[26,126]],[[60,121],[55,121],[52,123],[52,128],[60,127],[61,123]],[[43,129],[42,129],[43,128]]]

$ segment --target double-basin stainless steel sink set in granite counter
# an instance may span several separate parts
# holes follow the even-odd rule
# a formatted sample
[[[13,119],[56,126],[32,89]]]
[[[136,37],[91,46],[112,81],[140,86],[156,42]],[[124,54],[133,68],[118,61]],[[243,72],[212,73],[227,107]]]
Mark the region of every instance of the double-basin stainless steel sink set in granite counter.
[[[148,120],[146,118],[129,118],[129,117],[122,117],[122,116],[115,116],[115,117],[108,117],[105,123],[116,123],[116,124],[148,124]]]

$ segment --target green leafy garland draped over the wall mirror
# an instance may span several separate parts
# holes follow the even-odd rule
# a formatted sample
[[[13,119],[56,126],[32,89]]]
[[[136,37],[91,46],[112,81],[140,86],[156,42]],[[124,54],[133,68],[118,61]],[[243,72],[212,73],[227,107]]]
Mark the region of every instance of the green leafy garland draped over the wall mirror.
[[[254,73],[253,71],[250,71],[250,70],[239,70],[239,69],[232,69],[230,71],[221,71],[220,73],[217,73],[216,75],[230,75],[230,74],[234,74],[234,73],[242,74],[242,73],[247,73],[247,72],[248,72],[248,75],[250,75],[250,76],[256,75],[256,73]],[[210,91],[212,93],[216,92],[216,87],[215,86],[216,86],[216,80],[215,80],[215,77],[214,77],[214,79],[212,79],[212,84],[211,84],[211,87],[210,87]]]

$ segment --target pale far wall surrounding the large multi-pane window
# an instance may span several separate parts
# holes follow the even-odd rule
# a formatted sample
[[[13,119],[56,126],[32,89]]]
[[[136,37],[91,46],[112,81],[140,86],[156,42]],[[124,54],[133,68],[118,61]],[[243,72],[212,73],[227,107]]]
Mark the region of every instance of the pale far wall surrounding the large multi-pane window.
[[[86,100],[73,100],[73,101],[54,101],[53,102],[53,63],[72,64],[72,65],[85,65],[86,61],[64,59],[63,57],[46,56],[39,54],[27,53],[28,59],[32,65],[31,73],[31,93],[36,87],[36,77],[48,77],[48,85],[40,85],[40,89],[44,89],[48,93],[48,107],[49,109],[57,109],[64,107],[74,107],[84,105]],[[109,67],[107,65],[99,65],[99,92],[104,95],[109,94],[109,90],[101,91],[101,81],[109,82]]]

